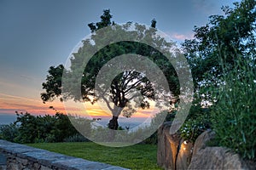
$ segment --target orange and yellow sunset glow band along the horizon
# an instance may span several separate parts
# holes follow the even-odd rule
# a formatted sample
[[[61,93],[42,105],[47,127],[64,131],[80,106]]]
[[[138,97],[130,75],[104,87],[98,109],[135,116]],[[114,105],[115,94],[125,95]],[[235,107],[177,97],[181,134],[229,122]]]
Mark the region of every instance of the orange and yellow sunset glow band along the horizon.
[[[66,105],[66,104],[65,104]],[[9,94],[0,93],[0,113],[15,114],[18,112],[28,112],[32,115],[54,115],[55,111],[49,109],[49,106],[53,106],[56,111],[64,114],[75,114],[79,116],[90,116],[90,117],[109,117],[112,114],[107,111],[106,108],[100,107],[99,105],[90,105],[90,103],[80,104],[73,102],[68,106],[68,110],[65,109],[65,105],[60,101],[47,102],[44,104],[40,99],[28,99],[20,96],[14,96]],[[154,108],[149,109],[138,109],[132,117],[150,117],[157,111]]]

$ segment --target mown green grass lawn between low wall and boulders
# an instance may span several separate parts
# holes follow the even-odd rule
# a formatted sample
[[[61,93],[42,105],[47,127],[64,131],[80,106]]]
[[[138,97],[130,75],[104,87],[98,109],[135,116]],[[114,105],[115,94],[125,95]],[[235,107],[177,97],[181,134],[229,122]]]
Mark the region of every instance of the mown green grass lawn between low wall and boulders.
[[[27,145],[67,156],[80,157],[90,161],[101,161],[131,169],[161,169],[156,164],[157,145],[154,144],[136,144],[121,148],[102,146],[92,142]]]

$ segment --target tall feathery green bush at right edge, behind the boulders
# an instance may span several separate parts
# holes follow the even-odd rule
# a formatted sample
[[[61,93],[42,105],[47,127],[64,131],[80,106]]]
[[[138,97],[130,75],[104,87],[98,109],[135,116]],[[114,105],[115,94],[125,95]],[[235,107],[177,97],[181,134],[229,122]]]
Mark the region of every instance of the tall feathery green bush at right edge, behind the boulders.
[[[224,84],[212,93],[216,143],[249,159],[256,158],[256,66],[252,63],[252,58],[238,59],[236,68],[226,72]]]

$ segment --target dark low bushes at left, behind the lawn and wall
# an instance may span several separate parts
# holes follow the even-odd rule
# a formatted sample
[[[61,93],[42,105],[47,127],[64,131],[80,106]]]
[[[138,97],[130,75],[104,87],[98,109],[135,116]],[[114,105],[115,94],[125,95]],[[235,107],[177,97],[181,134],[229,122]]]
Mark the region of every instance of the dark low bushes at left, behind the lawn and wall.
[[[79,132],[73,127],[67,115],[57,112],[55,116],[32,116],[29,113],[18,113],[15,123],[2,125],[0,135],[17,143],[62,142],[79,138]],[[84,122],[89,120],[85,119]],[[90,130],[90,123],[86,123]],[[85,141],[85,140],[83,140]]]

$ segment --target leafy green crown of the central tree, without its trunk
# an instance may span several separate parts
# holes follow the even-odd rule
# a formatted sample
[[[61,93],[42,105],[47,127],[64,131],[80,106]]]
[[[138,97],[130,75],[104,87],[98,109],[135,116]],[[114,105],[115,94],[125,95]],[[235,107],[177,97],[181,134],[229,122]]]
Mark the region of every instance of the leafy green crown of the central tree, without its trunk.
[[[49,75],[46,78],[46,82],[43,83],[45,92],[41,94],[41,99],[44,102],[52,101],[55,97],[60,97],[61,95],[61,100],[63,99],[64,101],[73,99],[74,101],[90,102],[91,104],[101,99],[103,102],[108,103],[108,110],[113,115],[119,116],[123,111],[124,116],[130,117],[136,111],[130,104],[136,103],[136,97],[141,94],[143,96],[142,102],[139,101],[137,103],[142,103],[142,105],[135,105],[135,107],[147,109],[149,107],[148,100],[154,100],[154,90],[156,89],[153,88],[153,83],[155,86],[158,85],[160,87],[159,84],[161,84],[162,80],[156,77],[159,80],[158,82],[156,80],[150,82],[146,78],[146,71],[148,73],[151,71],[156,75],[155,68],[157,67],[153,65],[140,65],[141,72],[132,69],[123,71],[122,68],[126,68],[124,65],[131,63],[132,56],[134,60],[134,56],[145,56],[148,60],[152,60],[152,63],[156,64],[166,77],[167,85],[172,94],[177,96],[180,93],[177,73],[169,59],[162,54],[171,55],[170,49],[175,44],[166,42],[165,38],[156,35],[156,30],[154,29],[156,20],[152,20],[151,27],[147,27],[137,23],[131,26],[131,22],[124,26],[118,26],[111,19],[110,10],[107,9],[103,11],[101,21],[88,25],[92,32],[90,39],[83,40],[79,49],[73,53],[73,57],[70,59],[71,65],[68,65],[70,69],[64,69],[62,65],[49,68]],[[103,27],[104,29],[102,29]],[[136,38],[131,41],[131,37]],[[119,41],[113,42],[113,40]],[[147,45],[147,42],[153,44],[153,47]],[[163,50],[160,53],[158,49]],[[134,55],[131,56],[131,54]],[[125,56],[125,58],[118,63],[109,63],[119,56]],[[135,64],[137,62],[143,63],[139,59],[138,61],[136,60]],[[180,65],[182,65],[178,59],[173,62],[180,62]],[[96,78],[101,75],[99,73],[102,68],[107,69],[107,71],[101,72],[104,75],[104,80],[107,80],[106,82],[108,82],[109,77],[115,76],[109,80],[112,81],[109,85],[110,90],[104,89],[106,82],[96,84]],[[122,70],[121,73],[118,73],[119,75],[115,75],[117,68]],[[61,71],[65,77],[62,82]],[[64,84],[67,84],[67,86]],[[133,96],[136,94],[134,93],[135,91],[139,93],[136,97]],[[161,91],[159,94],[164,95],[165,92]],[[167,92],[166,94],[171,95]],[[158,97],[160,98],[160,95]]]

